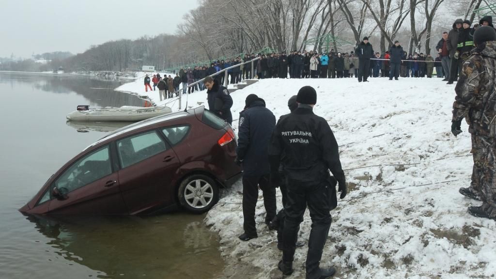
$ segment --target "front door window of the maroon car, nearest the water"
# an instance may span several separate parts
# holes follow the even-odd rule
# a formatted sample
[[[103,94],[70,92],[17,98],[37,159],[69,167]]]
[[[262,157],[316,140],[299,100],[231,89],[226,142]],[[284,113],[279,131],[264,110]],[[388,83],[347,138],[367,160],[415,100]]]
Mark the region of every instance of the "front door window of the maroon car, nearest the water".
[[[62,193],[68,193],[110,174],[112,174],[112,164],[109,146],[106,145],[73,163],[55,181],[55,187]]]

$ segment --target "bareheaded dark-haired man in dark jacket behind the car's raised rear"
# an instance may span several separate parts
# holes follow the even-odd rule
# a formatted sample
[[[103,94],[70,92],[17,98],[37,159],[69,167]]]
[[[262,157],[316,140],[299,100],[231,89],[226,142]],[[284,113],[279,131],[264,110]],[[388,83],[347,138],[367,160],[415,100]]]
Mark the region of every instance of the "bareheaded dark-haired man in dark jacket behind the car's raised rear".
[[[211,76],[205,77],[205,87],[207,87],[208,109],[218,117],[224,119],[227,123],[233,123],[231,107],[233,98],[229,95],[229,90],[219,84],[219,80]]]

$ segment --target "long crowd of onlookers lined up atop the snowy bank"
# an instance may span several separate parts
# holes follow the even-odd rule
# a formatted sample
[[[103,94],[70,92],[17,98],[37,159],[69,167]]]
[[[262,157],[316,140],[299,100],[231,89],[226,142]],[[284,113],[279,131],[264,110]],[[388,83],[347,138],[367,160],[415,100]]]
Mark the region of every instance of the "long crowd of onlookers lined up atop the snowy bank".
[[[372,45],[365,37],[355,51],[319,53],[317,51],[291,51],[271,54],[246,54],[243,58],[217,60],[208,65],[196,66],[193,69],[181,69],[175,77],[154,74],[151,82],[153,88],[158,87],[160,97],[171,98],[178,96],[182,85],[183,94],[196,90],[204,90],[202,80],[208,75],[215,75],[220,84],[237,84],[249,78],[346,78],[358,77],[359,81],[368,81],[367,77],[443,77],[448,84],[456,81],[462,62],[473,49],[473,34],[479,25],[493,26],[491,16],[485,16],[479,24],[472,24],[469,20],[457,19],[449,32],[443,32],[442,38],[436,46],[437,53],[408,54],[398,41],[383,54],[373,52]],[[365,51],[365,52],[364,52]],[[255,58],[251,65],[249,62]],[[239,65],[237,67],[233,67]],[[365,65],[365,66],[364,66]],[[227,78],[227,80],[226,80]],[[147,81],[148,80],[148,81]],[[194,82],[193,86],[189,86]],[[147,85],[148,84],[148,85]],[[150,77],[145,77],[145,90],[150,86]]]

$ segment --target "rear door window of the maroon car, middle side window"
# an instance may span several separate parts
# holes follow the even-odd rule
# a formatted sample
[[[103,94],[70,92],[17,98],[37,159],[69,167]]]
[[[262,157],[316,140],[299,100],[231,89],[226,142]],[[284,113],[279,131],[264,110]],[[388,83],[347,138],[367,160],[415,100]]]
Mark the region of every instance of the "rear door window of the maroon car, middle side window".
[[[155,131],[150,131],[118,140],[117,149],[121,166],[126,168],[160,152],[164,152],[167,150],[167,147]]]

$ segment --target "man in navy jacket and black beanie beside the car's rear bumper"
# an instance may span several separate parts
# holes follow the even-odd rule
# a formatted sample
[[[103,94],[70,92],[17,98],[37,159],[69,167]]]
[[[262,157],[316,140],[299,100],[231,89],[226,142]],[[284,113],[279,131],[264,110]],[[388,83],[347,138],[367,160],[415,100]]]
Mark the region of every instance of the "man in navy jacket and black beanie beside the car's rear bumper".
[[[276,118],[265,108],[265,101],[250,94],[245,101],[245,110],[240,113],[236,163],[243,166],[243,228],[239,236],[243,241],[256,238],[255,207],[258,187],[263,192],[265,223],[276,215],[276,190],[270,184],[268,146]]]

